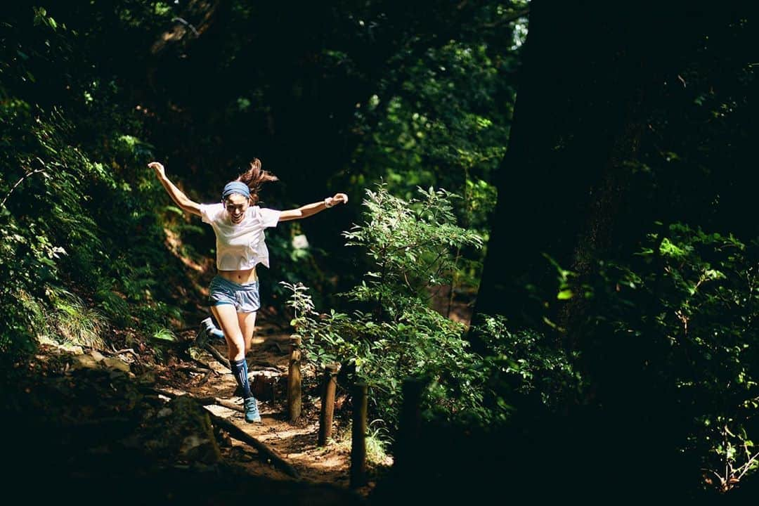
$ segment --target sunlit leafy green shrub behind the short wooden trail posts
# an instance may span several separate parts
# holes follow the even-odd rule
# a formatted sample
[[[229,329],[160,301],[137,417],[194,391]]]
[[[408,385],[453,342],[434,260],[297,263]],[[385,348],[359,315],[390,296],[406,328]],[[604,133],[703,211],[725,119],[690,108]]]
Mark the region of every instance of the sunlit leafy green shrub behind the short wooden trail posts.
[[[456,272],[454,251],[482,240],[456,225],[456,196],[419,194],[407,202],[383,185],[367,190],[364,222],[345,233],[370,260],[361,284],[344,294],[360,309],[320,314],[304,285],[284,283],[307,358],[342,363],[345,377],[367,382],[374,412],[391,427],[407,377],[430,380],[427,414],[444,420],[505,423],[515,401],[530,396],[550,409],[561,407],[581,381],[574,357],[546,335],[512,332],[504,319],[486,318],[471,329],[490,347],[481,357],[468,350],[463,325],[430,309],[433,284],[449,283]]]

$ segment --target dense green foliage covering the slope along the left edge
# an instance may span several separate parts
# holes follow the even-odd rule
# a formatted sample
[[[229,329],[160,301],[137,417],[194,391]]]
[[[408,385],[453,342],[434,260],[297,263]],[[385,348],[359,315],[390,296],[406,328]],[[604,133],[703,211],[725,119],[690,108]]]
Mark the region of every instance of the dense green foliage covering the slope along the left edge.
[[[66,14],[17,5],[2,24],[0,350],[10,360],[43,335],[102,347],[110,325],[179,315],[156,281],[173,257],[153,210],[162,189],[143,169],[152,146]]]

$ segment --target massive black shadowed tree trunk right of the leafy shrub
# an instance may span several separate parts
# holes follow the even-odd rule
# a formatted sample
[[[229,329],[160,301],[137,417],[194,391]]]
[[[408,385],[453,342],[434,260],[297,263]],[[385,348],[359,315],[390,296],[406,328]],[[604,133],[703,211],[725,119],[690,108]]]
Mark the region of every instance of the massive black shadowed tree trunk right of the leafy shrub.
[[[704,12],[679,7],[532,5],[475,324],[499,314],[540,328],[558,289],[546,256],[582,275],[591,256],[635,236],[628,180],[650,96],[703,35]]]

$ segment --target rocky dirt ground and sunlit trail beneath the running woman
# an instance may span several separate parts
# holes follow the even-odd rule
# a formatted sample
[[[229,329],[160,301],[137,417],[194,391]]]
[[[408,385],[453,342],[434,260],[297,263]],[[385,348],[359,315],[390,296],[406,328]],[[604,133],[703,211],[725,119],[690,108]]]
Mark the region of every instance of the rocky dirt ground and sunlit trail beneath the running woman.
[[[212,436],[218,450],[206,454],[217,457],[210,460],[197,451],[197,460],[188,459],[180,454],[180,444],[172,447],[178,424],[162,418],[169,407],[176,411],[169,398],[190,394],[242,404],[229,370],[194,347],[194,336],[194,330],[186,330],[178,342],[156,344],[136,335],[114,335],[112,342],[121,349],[102,353],[46,343],[28,362],[15,363],[0,385],[5,450],[15,464],[5,471],[8,483],[20,493],[33,490],[38,500],[71,499],[78,504],[100,504],[103,495],[109,504],[224,504],[246,495],[250,500],[286,498],[291,504],[365,502],[392,460],[369,462],[367,485],[350,489],[346,408],[335,410],[332,432],[342,438],[317,446],[320,399],[307,366],[301,417],[288,422],[290,336],[276,325],[257,328],[247,357],[261,399],[261,423],[246,423],[240,411],[219,405],[204,409],[268,445],[300,479],[218,428]],[[212,345],[226,355],[223,341]],[[269,381],[261,382],[263,376]],[[156,393],[161,391],[173,395]],[[187,441],[186,434],[177,441],[181,438]]]

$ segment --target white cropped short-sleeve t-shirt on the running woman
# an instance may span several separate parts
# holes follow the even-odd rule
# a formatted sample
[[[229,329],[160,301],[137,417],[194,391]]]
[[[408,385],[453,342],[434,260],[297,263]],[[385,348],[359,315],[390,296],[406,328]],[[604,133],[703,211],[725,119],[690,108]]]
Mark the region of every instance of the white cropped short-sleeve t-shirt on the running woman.
[[[258,263],[269,267],[263,229],[274,227],[282,211],[250,206],[242,222],[232,224],[224,204],[200,204],[200,216],[216,232],[216,269],[241,271]]]

